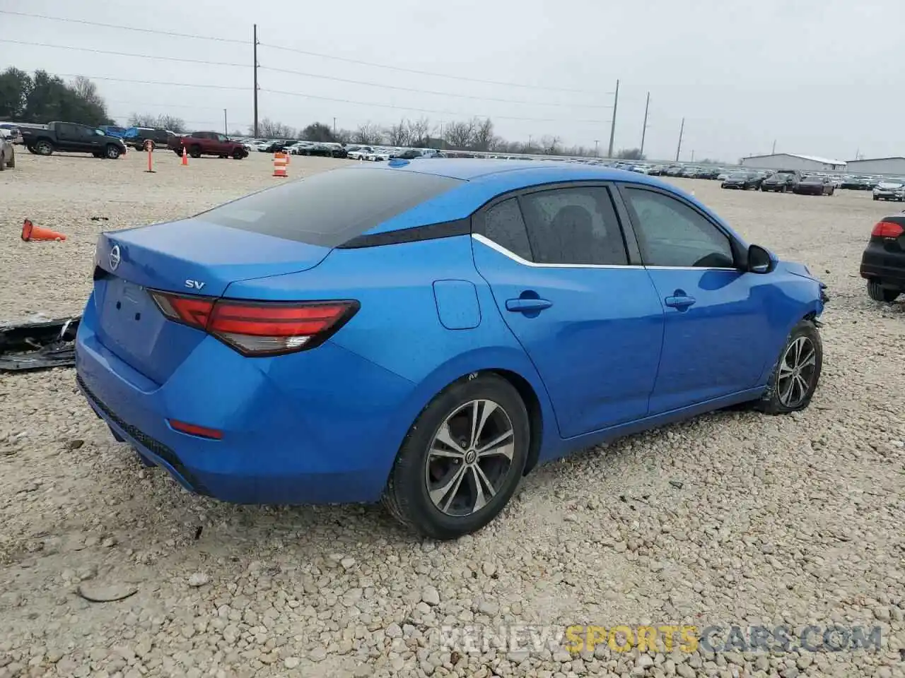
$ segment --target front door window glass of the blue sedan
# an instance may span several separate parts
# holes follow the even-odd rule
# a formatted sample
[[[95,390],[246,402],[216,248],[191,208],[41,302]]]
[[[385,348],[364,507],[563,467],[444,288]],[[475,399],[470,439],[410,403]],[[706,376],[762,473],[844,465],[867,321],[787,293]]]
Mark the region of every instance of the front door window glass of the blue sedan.
[[[735,267],[729,237],[690,206],[643,189],[626,188],[624,195],[645,265]]]

